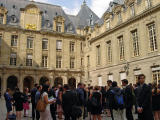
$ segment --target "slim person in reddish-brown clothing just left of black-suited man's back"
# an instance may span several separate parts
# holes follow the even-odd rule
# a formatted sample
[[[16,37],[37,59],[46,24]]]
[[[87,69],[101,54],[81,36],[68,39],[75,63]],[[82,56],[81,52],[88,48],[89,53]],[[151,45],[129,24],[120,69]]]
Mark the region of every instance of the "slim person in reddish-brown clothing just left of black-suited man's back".
[[[62,119],[62,114],[63,114],[62,95],[63,95],[63,88],[61,86],[57,93],[57,114],[59,119]]]

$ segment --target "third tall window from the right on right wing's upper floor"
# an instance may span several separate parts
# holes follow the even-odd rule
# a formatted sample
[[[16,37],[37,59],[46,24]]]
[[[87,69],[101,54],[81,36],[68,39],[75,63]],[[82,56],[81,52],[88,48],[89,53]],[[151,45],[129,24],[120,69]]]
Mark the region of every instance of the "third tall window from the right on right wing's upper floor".
[[[123,36],[118,37],[118,40],[119,40],[120,60],[124,60],[124,41],[123,41]]]

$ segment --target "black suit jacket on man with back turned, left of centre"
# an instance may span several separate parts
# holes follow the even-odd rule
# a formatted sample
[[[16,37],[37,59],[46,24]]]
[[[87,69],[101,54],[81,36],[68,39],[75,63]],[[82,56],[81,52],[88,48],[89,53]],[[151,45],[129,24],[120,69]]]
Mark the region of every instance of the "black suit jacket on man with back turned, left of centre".
[[[72,107],[77,104],[76,92],[66,91],[62,96],[62,107],[65,114],[72,111]]]

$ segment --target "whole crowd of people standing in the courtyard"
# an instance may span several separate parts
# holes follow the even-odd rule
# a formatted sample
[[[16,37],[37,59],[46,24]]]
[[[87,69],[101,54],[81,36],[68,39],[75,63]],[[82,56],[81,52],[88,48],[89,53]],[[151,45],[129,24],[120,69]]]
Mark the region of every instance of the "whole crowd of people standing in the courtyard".
[[[30,92],[30,95],[29,95]],[[160,85],[146,84],[145,75],[138,76],[137,84],[122,80],[118,86],[116,81],[107,81],[107,86],[89,86],[79,83],[77,88],[68,84],[50,87],[49,81],[43,85],[35,84],[24,93],[15,88],[14,93],[7,89],[4,94],[7,116],[9,120],[13,106],[16,109],[16,120],[21,120],[22,111],[27,117],[29,104],[32,104],[32,120],[101,120],[101,114],[106,114],[112,120],[135,120],[133,114],[138,114],[138,120],[160,120]],[[40,111],[40,100],[45,109]],[[38,106],[38,107],[37,107]],[[134,111],[133,111],[134,110]]]

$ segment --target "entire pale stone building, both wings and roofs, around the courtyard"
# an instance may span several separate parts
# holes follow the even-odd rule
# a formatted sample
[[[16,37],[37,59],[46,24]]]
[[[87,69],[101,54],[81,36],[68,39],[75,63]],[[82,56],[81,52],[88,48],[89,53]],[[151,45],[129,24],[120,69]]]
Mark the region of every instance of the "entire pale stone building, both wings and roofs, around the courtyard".
[[[160,80],[160,1],[113,0],[102,18],[84,1],[76,16],[61,6],[0,1],[0,90],[127,78]]]

